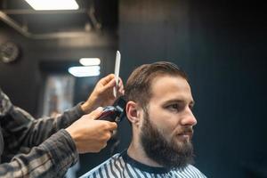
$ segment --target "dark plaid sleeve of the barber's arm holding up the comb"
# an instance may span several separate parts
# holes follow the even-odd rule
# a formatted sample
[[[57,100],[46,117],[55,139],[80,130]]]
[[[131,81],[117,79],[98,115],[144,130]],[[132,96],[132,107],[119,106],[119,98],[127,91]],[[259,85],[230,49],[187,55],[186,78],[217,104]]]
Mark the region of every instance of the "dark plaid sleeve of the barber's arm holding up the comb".
[[[28,152],[31,147],[44,142],[61,128],[68,127],[83,114],[78,104],[58,117],[34,119],[25,110],[12,106],[1,120],[4,154]]]

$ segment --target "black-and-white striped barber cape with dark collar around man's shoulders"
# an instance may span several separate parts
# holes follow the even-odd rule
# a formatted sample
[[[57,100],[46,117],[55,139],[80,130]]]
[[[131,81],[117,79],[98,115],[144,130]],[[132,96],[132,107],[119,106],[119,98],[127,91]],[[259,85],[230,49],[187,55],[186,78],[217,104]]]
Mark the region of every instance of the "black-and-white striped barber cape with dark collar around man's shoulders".
[[[191,178],[206,177],[196,167],[188,165],[182,168],[166,169],[143,165],[127,155],[126,150],[117,153],[101,165],[82,175],[81,178]]]

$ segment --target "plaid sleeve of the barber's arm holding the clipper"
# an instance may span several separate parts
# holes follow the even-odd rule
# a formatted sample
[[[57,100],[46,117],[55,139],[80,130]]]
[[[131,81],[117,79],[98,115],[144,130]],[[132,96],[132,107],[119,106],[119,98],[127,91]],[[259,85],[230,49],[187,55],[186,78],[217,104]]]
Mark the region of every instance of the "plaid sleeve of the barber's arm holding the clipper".
[[[28,154],[0,165],[0,177],[63,177],[77,162],[77,149],[69,133],[61,129]]]

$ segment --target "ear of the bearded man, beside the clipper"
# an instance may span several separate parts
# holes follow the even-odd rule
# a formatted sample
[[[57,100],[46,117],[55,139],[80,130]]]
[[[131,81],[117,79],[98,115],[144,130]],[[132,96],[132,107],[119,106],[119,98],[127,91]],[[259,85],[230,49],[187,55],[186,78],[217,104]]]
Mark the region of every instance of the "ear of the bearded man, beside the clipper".
[[[134,101],[128,101],[126,104],[126,115],[128,117],[128,120],[133,125],[139,125],[140,122],[140,116],[141,116],[141,108],[138,106],[138,104]]]

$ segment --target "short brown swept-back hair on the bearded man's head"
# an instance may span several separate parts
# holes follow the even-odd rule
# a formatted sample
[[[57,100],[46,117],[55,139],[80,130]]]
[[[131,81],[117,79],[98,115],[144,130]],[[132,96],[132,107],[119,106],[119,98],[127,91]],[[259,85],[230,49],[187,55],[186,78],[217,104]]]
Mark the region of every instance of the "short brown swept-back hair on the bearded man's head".
[[[178,76],[186,79],[185,72],[172,62],[158,61],[134,69],[125,85],[126,101],[135,101],[146,108],[151,98],[151,81],[158,76]]]

